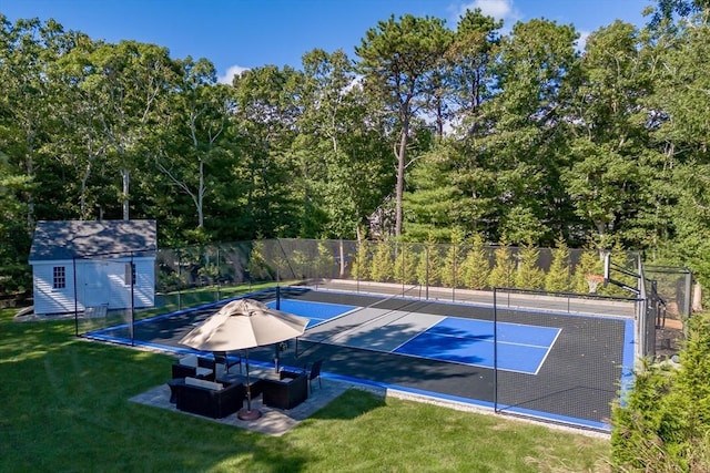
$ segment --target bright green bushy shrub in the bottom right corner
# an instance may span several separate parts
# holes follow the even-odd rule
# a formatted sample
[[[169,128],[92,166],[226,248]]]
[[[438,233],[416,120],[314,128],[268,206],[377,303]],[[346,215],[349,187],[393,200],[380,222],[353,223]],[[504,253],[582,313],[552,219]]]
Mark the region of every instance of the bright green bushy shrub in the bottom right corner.
[[[680,366],[643,363],[612,409],[611,461],[623,471],[710,469],[710,315],[690,319]]]

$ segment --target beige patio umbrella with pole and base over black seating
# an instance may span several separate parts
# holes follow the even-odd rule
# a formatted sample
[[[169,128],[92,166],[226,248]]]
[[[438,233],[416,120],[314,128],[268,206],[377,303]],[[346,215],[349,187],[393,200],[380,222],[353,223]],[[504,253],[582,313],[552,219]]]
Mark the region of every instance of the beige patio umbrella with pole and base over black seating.
[[[240,419],[258,419],[252,411],[248,376],[248,349],[278,343],[302,336],[308,319],[274,310],[253,299],[237,299],[222,307],[180,340],[182,345],[205,351],[246,351],[246,410]]]

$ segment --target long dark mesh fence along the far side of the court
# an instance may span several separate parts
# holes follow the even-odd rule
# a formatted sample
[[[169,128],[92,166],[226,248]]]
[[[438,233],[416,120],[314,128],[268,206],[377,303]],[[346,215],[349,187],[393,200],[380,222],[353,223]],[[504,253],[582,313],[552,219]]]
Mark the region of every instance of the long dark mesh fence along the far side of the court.
[[[636,254],[613,257],[638,273]],[[237,285],[342,285],[344,290],[367,292],[376,287],[388,294],[418,285],[425,298],[462,300],[467,291],[489,292],[494,287],[585,294],[587,276],[602,273],[602,258],[595,250],[273,239],[160,250],[156,292],[181,294],[189,304],[195,290],[219,300]],[[611,285],[597,292],[628,296]]]

